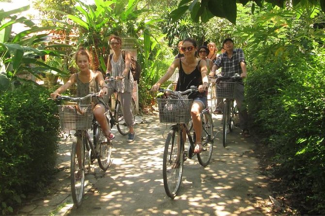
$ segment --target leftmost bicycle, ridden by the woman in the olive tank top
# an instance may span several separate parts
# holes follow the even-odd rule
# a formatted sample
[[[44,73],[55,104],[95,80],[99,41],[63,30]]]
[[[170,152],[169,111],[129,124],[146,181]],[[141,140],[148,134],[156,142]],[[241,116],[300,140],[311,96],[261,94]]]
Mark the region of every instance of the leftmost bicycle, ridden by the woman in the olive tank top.
[[[97,95],[98,93],[90,93],[84,97],[60,96],[55,98],[56,100],[77,102],[75,105],[58,106],[61,129],[76,130],[71,148],[70,181],[72,200],[77,207],[81,205],[84,191],[85,150],[88,151],[88,170],[95,158],[97,158],[99,167],[104,171],[112,164],[112,140],[105,140],[100,125],[93,116],[92,106],[79,105],[82,100]],[[109,122],[110,117],[105,116]],[[90,138],[89,129],[93,130],[93,139]]]

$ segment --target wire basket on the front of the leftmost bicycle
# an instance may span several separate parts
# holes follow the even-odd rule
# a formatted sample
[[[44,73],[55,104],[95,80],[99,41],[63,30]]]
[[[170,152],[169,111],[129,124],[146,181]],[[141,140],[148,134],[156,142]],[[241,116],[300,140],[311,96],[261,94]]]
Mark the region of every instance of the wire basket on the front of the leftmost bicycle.
[[[59,108],[60,126],[62,130],[90,129],[93,123],[93,109],[91,105],[62,105]]]

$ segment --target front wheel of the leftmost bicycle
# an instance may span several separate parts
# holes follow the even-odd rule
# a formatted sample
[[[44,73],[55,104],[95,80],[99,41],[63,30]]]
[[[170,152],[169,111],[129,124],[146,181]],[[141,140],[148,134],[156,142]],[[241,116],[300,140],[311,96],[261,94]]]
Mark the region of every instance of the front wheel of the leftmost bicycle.
[[[71,195],[74,205],[77,207],[81,205],[84,186],[84,138],[82,136],[76,136],[73,139],[71,150]]]

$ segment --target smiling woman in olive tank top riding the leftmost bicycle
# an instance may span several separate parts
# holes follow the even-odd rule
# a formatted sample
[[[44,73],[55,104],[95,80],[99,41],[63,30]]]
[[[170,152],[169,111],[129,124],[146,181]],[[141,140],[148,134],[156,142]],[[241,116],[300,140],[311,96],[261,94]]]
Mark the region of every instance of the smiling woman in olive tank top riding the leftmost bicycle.
[[[83,97],[87,94],[93,92],[99,92],[99,97],[93,98],[92,102],[95,104],[94,108],[94,116],[100,127],[108,140],[112,140],[115,138],[114,134],[111,133],[108,122],[105,117],[105,102],[101,98],[104,94],[107,94],[107,86],[105,84],[104,77],[100,71],[90,70],[90,62],[91,56],[89,52],[80,47],[75,55],[75,60],[80,70],[79,73],[75,73],[71,75],[69,80],[62,86],[60,86],[55,92],[51,93],[51,97],[56,98],[61,93],[64,93],[70,86],[72,86],[75,82],[77,83],[77,97]],[[101,88],[101,89],[100,89]],[[89,100],[82,101],[82,104],[90,104],[91,98],[87,98]]]

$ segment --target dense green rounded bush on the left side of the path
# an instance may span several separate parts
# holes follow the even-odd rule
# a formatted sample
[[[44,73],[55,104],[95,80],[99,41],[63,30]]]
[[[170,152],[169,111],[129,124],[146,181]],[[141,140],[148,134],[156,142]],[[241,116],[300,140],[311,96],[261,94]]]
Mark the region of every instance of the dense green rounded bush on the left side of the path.
[[[13,212],[24,194],[44,187],[53,174],[59,120],[49,91],[21,85],[0,96],[0,210]]]

